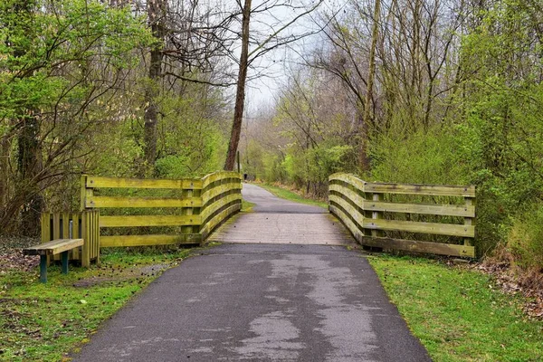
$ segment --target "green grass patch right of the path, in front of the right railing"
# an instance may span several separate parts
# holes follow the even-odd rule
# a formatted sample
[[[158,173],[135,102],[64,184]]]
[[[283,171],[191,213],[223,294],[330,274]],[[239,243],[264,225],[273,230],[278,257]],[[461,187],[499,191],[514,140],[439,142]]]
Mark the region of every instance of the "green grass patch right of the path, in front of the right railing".
[[[543,360],[543,321],[490,276],[422,258],[368,260],[434,361]]]

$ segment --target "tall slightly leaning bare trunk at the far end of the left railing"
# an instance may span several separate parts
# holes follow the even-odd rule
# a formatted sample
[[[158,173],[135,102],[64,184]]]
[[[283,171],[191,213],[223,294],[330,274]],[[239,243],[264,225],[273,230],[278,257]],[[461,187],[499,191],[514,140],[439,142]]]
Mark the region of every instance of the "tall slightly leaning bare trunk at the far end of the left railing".
[[[242,133],[243,107],[245,103],[245,81],[247,79],[247,68],[249,66],[249,20],[251,17],[251,0],[245,0],[243,5],[242,21],[242,54],[240,56],[240,67],[238,73],[237,89],[235,94],[235,108],[233,110],[232,132],[228,144],[228,153],[224,169],[233,171],[235,166],[235,154],[240,142]]]

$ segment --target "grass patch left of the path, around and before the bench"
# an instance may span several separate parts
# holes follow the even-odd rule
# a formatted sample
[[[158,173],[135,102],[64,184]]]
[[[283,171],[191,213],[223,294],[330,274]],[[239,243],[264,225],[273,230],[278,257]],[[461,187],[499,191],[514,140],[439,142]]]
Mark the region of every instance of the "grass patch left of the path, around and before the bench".
[[[48,282],[39,271],[2,271],[0,281],[0,360],[60,361],[88,341],[134,294],[186,258],[190,250],[110,251],[89,269],[48,268]]]

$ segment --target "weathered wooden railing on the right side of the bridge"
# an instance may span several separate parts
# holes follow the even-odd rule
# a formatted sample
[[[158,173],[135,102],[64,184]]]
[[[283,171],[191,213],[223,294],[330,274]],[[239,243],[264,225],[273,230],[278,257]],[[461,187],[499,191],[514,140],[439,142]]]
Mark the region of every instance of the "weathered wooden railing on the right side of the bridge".
[[[461,199],[462,204],[384,201],[388,195],[414,195],[419,198],[439,196],[439,199]],[[362,245],[410,252],[475,256],[475,248],[472,246],[475,237],[475,186],[369,183],[357,176],[338,173],[329,176],[329,211],[338,216]],[[455,216],[462,218],[463,224],[398,220],[395,219],[397,214]],[[387,231],[455,236],[461,238],[462,243],[433,243],[385,237]]]

